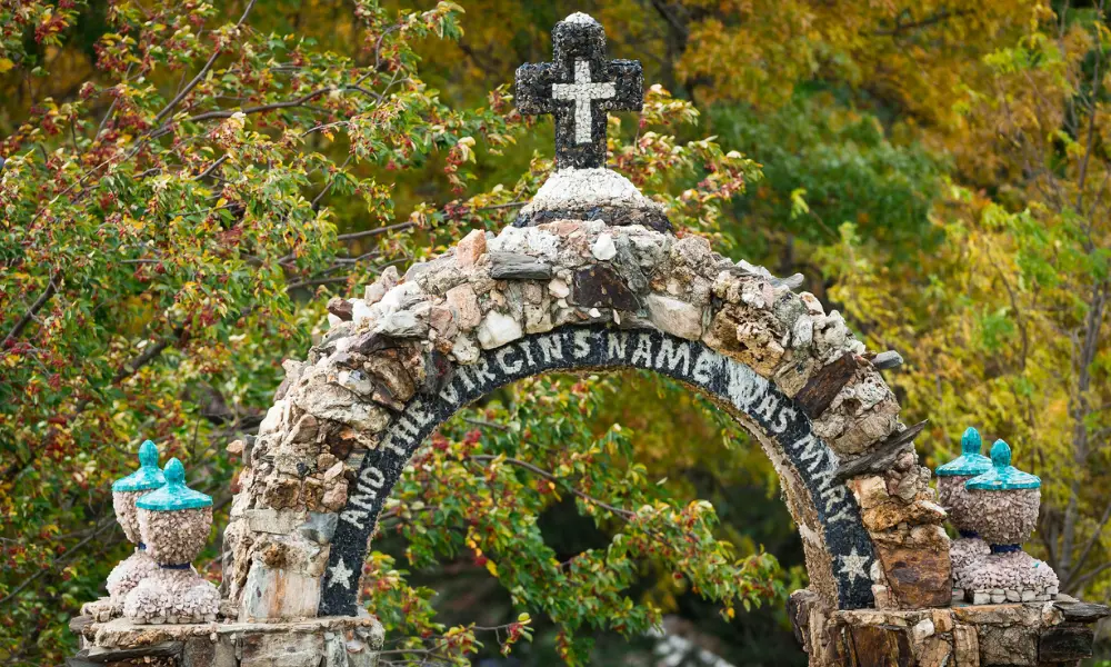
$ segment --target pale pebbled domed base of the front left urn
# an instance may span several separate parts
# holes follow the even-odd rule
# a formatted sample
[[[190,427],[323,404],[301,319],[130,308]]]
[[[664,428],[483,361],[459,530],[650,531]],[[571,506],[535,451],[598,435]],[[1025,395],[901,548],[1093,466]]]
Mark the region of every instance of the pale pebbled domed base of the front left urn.
[[[192,567],[160,568],[140,581],[123,603],[123,615],[137,624],[213,621],[219,611],[220,591]]]

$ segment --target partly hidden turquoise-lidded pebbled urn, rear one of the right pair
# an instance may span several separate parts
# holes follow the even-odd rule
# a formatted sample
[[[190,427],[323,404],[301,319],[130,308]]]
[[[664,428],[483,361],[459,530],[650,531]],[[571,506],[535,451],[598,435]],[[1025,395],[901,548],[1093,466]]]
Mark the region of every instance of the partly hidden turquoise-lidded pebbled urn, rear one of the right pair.
[[[980,431],[971,426],[961,436],[961,454],[948,464],[938,466],[938,501],[949,512],[949,520],[960,532],[949,548],[953,563],[953,597],[963,599],[969,577],[980,567],[983,557],[990,552],[988,542],[972,528],[972,516],[977,509],[964,484],[991,470],[991,459],[980,454],[983,441]]]

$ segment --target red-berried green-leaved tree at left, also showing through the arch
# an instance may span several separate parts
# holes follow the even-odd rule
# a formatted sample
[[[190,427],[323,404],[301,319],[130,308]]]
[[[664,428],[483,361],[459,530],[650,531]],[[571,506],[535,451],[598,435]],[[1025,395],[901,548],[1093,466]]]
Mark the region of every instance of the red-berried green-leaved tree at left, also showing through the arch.
[[[412,11],[367,0],[344,8],[334,30],[316,31],[279,31],[298,22],[287,13],[294,10],[253,1],[73,10],[31,1],[2,11],[0,77],[34,102],[4,108],[14,122],[3,120],[10,131],[0,143],[0,290],[9,306],[0,315],[0,657],[57,663],[72,649],[67,619],[98,597],[126,552],[108,489],[133,466],[138,444],[151,438],[163,457],[186,461],[191,484],[226,508],[234,466],[222,446],[257,427],[281,360],[318,334],[329,293],[354,291],[468,228],[503,226],[551,162],[534,159],[511,186],[487,181],[468,192],[479,160],[497,163],[528,128],[504,89],[486,106],[450,107],[420,78],[416,47],[461,34],[462,10],[451,2]],[[78,73],[72,91],[41,94],[56,90],[51,64]],[[610,148],[673,219],[713,233],[758,170],[711,140],[668,133],[697,117],[653,89],[637,137],[614,137]],[[416,197],[418,181],[433,190]],[[542,425],[528,420],[550,416],[521,409],[503,416],[538,432]],[[582,424],[567,434],[581,438],[582,456],[628,457],[630,439],[599,445]],[[497,557],[490,563],[501,565],[514,618],[549,615],[565,631],[569,659],[584,655],[584,628],[634,633],[658,620],[658,608],[622,594],[653,546],[660,567],[684,573],[727,610],[780,593],[764,581],[772,559],[733,568],[708,505],[638,490],[635,468],[603,466],[581,479],[581,462],[529,459],[526,449],[491,439],[467,461],[430,449],[422,465],[456,482],[457,505],[441,502],[438,520],[487,508],[483,526],[498,519],[504,530],[462,546],[416,540],[412,556],[420,565],[466,547]],[[510,458],[550,466],[546,492],[584,484],[635,502],[617,512],[627,526],[613,546],[551,569],[529,529],[547,498]],[[448,487],[426,489],[437,491]],[[494,511],[494,500],[502,507],[513,495],[516,504]],[[652,541],[688,531],[697,541]],[[393,569],[382,556],[371,566]],[[214,563],[206,569],[219,576]],[[397,583],[402,608],[427,600],[392,577],[380,581]],[[396,629],[426,648],[446,643],[456,660],[478,648],[472,628],[438,624],[429,609],[406,620],[419,628]],[[493,631],[508,649],[528,637],[529,621]]]

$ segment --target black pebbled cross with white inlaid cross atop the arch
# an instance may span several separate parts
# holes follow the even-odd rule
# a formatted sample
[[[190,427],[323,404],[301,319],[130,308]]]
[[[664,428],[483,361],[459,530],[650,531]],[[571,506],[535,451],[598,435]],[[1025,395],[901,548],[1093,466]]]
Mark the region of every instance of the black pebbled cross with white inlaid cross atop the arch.
[[[577,12],[552,30],[552,62],[517,69],[517,108],[556,117],[556,168],[605,166],[605,112],[640,111],[644,71],[639,60],[605,60],[601,23]]]

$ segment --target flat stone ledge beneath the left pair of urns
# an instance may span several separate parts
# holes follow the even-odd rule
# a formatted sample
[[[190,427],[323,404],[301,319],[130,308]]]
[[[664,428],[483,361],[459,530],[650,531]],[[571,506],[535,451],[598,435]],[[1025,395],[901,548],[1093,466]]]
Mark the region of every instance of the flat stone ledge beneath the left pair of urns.
[[[70,667],[377,667],[384,631],[378,619],[324,617],[289,623],[216,621],[137,625],[78,617],[81,651]]]

